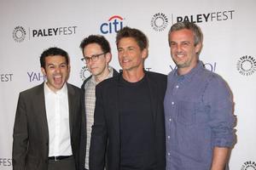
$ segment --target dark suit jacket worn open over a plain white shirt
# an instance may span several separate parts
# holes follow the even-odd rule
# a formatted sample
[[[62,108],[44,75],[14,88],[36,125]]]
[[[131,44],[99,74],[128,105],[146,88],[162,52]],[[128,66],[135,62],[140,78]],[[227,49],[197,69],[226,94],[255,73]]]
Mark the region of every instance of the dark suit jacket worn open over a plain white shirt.
[[[69,124],[73,157],[79,169],[79,146],[83,116],[82,92],[67,83]],[[13,169],[47,170],[49,129],[47,124],[44,83],[20,93],[13,134]]]

